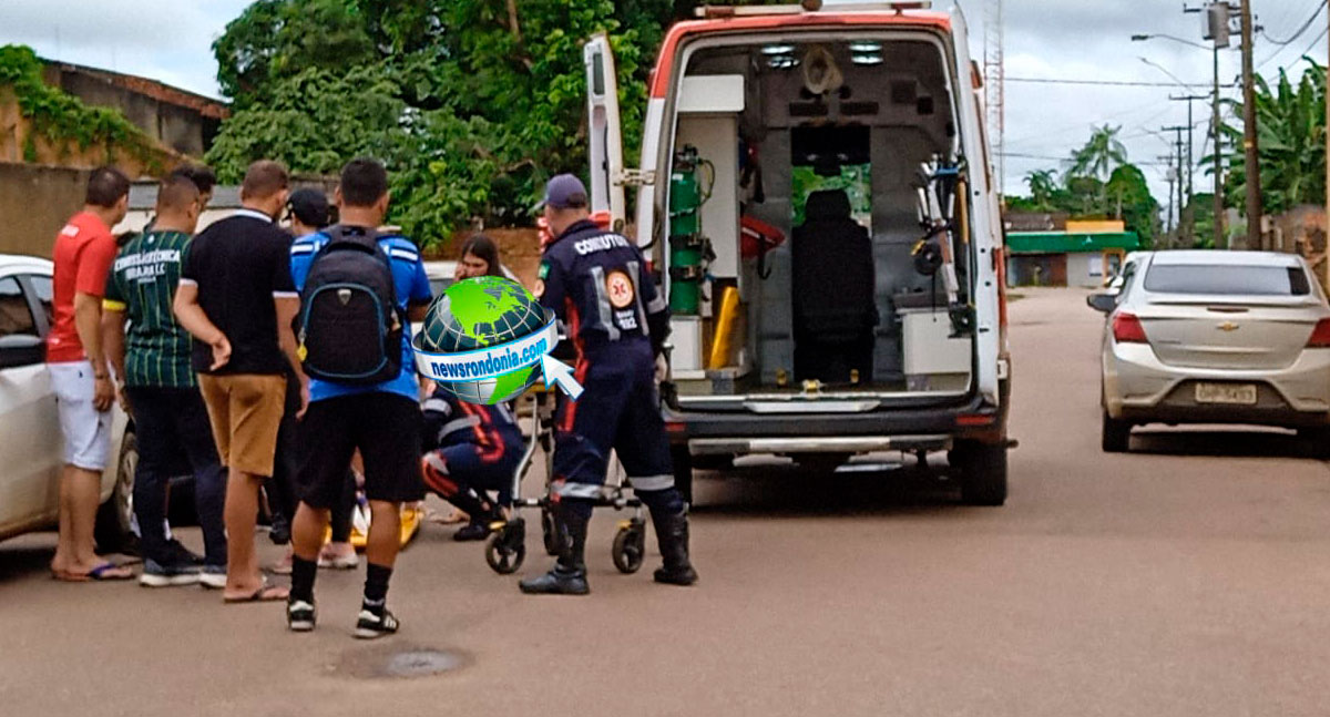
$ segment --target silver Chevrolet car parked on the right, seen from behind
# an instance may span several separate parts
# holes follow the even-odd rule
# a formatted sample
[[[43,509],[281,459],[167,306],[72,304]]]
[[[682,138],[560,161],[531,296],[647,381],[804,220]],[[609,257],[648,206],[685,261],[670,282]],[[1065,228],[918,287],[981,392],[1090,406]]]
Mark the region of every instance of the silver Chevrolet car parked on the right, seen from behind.
[[[1330,454],[1330,306],[1306,261],[1260,251],[1144,255],[1104,311],[1104,451],[1133,426],[1295,428]]]

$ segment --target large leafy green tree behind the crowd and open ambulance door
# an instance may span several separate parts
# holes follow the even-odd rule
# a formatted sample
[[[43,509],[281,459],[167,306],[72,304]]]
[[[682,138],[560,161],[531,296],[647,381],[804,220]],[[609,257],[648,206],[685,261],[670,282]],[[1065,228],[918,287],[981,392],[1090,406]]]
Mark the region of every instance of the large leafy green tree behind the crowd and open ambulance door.
[[[625,145],[640,138],[637,29],[661,0],[261,0],[214,44],[237,112],[209,161],[234,180],[259,157],[329,173],[371,154],[394,176],[394,217],[422,241],[472,217],[528,219],[545,178],[583,172],[583,41],[609,32]]]

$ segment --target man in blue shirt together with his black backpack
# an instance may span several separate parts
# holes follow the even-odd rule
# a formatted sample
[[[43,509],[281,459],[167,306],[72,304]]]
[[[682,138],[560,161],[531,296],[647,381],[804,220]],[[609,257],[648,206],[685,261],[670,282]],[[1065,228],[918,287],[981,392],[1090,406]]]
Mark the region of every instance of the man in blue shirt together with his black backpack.
[[[297,339],[311,380],[297,442],[301,505],[286,621],[294,632],[314,629],[319,548],[359,450],[371,521],[355,636],[374,639],[398,631],[386,597],[400,547],[400,508],[424,498],[420,388],[408,322],[424,318],[431,293],[415,245],[375,230],[388,209],[383,165],[364,158],[347,164],[336,205],[340,223],[291,245],[291,278],[301,291]]]

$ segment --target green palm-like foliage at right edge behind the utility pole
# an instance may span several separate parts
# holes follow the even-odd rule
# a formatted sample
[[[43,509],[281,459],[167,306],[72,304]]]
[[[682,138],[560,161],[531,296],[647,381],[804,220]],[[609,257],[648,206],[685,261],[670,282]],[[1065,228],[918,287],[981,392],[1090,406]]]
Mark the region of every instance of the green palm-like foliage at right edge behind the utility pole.
[[[1315,61],[1294,85],[1279,69],[1274,89],[1264,77],[1256,82],[1257,138],[1261,148],[1261,196],[1267,214],[1282,214],[1302,204],[1323,204],[1326,190],[1326,69]],[[1233,114],[1244,116],[1241,102]],[[1242,128],[1225,124],[1233,150],[1228,166],[1225,202],[1245,210],[1246,157]]]

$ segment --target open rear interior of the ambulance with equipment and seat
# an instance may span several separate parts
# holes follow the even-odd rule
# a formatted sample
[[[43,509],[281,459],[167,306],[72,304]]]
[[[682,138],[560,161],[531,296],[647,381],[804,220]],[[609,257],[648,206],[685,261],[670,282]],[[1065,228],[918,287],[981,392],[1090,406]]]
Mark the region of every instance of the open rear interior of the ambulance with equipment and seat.
[[[974,258],[944,57],[882,33],[688,57],[661,249],[681,395],[968,391]]]

